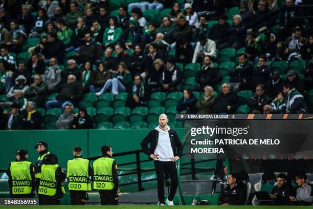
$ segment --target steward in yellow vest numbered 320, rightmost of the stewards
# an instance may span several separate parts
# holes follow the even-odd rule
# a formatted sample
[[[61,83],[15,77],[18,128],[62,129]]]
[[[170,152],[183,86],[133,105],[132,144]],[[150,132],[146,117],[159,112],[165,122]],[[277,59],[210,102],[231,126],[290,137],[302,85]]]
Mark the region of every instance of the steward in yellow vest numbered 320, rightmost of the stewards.
[[[112,158],[113,150],[109,145],[104,145],[101,153],[102,157],[93,164],[94,190],[99,190],[101,205],[118,205],[119,177],[116,161]]]

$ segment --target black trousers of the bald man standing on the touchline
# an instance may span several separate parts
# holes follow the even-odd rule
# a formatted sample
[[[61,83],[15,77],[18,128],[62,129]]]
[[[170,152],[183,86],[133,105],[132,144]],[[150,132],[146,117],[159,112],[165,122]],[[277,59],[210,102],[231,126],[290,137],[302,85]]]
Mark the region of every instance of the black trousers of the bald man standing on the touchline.
[[[177,186],[178,186],[178,176],[176,163],[172,161],[154,161],[155,172],[157,173],[158,179],[158,198],[160,203],[165,204],[164,197],[164,174],[168,174],[171,179],[171,189],[170,194],[168,196],[168,200],[172,201],[174,199]]]

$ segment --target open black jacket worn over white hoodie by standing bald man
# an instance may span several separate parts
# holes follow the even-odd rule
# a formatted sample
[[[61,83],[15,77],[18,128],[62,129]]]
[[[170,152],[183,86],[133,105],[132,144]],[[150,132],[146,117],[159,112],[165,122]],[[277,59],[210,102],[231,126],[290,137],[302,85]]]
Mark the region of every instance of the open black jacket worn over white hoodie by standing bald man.
[[[171,146],[173,149],[174,156],[181,157],[182,156],[182,142],[180,138],[178,137],[177,133],[170,129],[168,131],[169,138],[171,140]],[[143,150],[143,152],[149,156],[148,159],[152,160],[150,158],[150,155],[154,153],[155,148],[157,148],[159,139],[159,131],[153,129],[148,133],[147,136],[141,141],[140,145]],[[150,144],[150,148],[148,148],[148,144]]]

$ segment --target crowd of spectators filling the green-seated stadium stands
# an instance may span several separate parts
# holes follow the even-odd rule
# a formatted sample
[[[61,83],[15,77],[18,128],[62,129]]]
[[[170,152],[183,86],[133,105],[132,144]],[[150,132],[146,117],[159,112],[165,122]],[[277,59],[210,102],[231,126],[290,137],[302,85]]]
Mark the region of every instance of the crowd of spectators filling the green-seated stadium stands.
[[[188,114],[236,113],[242,105],[254,114],[309,112],[312,22],[287,23],[287,10],[279,11],[309,1],[159,0],[116,11],[111,1],[0,0],[0,95],[7,97],[0,100],[1,129],[39,129],[36,108],[61,108],[58,129],[93,128],[85,108],[73,112],[86,93],[128,92],[133,109],[147,106],[154,92],[181,91],[176,110]],[[290,15],[311,12],[292,8]],[[225,74],[219,53],[229,48],[236,64]],[[303,71],[290,67],[297,60],[306,61]],[[278,71],[278,61],[290,69]],[[180,67],[188,64],[200,64],[193,86]],[[252,92],[244,103],[242,91]]]

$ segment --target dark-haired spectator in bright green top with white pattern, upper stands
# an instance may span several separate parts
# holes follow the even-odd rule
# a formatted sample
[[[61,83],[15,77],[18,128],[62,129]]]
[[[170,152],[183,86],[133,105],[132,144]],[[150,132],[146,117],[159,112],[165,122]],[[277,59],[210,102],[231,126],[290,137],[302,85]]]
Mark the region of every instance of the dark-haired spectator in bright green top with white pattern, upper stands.
[[[114,45],[122,35],[122,29],[118,27],[117,20],[114,17],[109,18],[109,27],[105,29],[102,43],[105,47]]]

